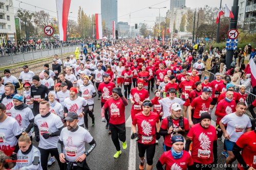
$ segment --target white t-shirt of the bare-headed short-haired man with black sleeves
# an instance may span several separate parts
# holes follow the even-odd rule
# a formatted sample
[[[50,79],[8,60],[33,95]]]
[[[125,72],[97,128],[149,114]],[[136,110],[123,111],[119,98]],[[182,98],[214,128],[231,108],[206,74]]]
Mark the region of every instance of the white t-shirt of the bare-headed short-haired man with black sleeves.
[[[42,149],[51,149],[57,148],[57,142],[59,140],[59,136],[50,137],[45,139],[42,137],[44,133],[54,133],[57,132],[59,128],[63,126],[61,119],[56,114],[50,113],[47,117],[42,117],[41,114],[37,114],[35,116],[35,125],[37,125],[39,129],[39,148]]]

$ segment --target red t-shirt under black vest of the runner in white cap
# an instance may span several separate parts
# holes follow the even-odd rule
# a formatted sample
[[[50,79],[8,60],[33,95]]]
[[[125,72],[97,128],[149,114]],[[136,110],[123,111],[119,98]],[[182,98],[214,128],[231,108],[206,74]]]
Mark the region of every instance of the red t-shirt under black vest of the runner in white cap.
[[[183,117],[183,125],[184,125],[184,130],[185,131],[188,131],[189,130],[189,124],[188,124],[188,120],[186,117]],[[173,128],[174,128],[174,131],[177,131],[178,128],[179,128],[179,122],[180,120],[175,120],[173,119]],[[163,130],[167,130],[168,131],[168,120],[167,120],[167,117],[165,117],[163,120],[162,120],[162,125],[161,125],[161,128]],[[172,136],[171,134],[167,134],[165,137],[164,137],[164,144],[167,146],[167,147],[172,147],[173,143],[172,143]]]

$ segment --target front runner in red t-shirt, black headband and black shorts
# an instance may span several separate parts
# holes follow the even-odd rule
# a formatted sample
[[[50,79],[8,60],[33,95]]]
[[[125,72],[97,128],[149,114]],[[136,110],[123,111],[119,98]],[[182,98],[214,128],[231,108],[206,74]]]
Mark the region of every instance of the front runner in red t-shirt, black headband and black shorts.
[[[132,131],[134,138],[138,141],[138,150],[140,157],[139,168],[144,169],[145,152],[146,152],[146,169],[153,168],[153,158],[156,150],[156,140],[161,136],[159,134],[161,122],[157,113],[151,112],[151,101],[144,101],[143,111],[134,116],[132,123]],[[136,133],[136,125],[138,133]]]

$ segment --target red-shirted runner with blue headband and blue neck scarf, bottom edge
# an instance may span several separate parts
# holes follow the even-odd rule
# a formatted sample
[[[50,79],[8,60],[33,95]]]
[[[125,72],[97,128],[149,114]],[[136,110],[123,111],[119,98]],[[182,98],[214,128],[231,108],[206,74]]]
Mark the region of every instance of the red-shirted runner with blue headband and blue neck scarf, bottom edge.
[[[183,151],[184,137],[181,134],[172,136],[173,147],[172,150],[164,152],[157,162],[157,169],[179,169],[187,170],[193,165],[193,160],[187,151]],[[182,153],[177,156],[177,153]]]

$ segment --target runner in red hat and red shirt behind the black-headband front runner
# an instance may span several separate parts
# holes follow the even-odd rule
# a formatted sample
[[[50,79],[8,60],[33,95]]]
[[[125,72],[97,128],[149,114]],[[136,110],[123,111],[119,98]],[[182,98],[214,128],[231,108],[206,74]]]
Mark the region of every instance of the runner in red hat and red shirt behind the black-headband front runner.
[[[148,91],[143,88],[144,81],[143,79],[138,80],[138,87],[135,87],[131,90],[130,93],[130,101],[132,103],[132,109],[131,109],[131,117],[132,120],[135,116],[135,114],[142,111],[142,102],[144,100],[149,100],[150,97],[148,95]]]

